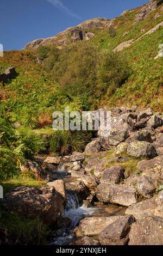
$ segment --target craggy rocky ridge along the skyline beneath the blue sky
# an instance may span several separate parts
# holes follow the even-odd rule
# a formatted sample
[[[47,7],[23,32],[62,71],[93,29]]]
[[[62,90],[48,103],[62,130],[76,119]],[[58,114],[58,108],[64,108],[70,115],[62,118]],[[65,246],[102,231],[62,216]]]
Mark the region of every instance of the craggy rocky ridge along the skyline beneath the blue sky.
[[[96,31],[107,31],[111,26],[114,26],[116,30],[120,29],[121,26],[127,26],[128,23],[131,23],[132,26],[136,26],[137,22],[145,20],[151,13],[154,13],[154,19],[158,19],[158,17],[162,16],[163,9],[162,7],[160,8],[161,4],[162,0],[151,0],[148,4],[143,5],[143,7],[123,11],[120,17],[113,20],[106,18],[87,20],[76,27],[67,28],[64,32],[60,32],[51,38],[36,39],[29,42],[24,48],[37,48],[45,45],[55,45],[60,47],[76,41],[90,40],[95,36]],[[145,32],[145,30],[142,31],[142,33],[143,32]],[[124,35],[127,35],[127,32]],[[128,46],[128,44],[124,46]],[[123,47],[118,48],[118,50],[122,50],[122,48]]]

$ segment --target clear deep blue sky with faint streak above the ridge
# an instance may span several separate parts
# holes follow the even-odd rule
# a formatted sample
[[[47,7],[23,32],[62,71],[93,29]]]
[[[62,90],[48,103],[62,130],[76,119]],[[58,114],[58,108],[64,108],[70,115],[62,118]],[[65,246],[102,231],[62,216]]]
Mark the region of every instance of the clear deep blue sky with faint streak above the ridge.
[[[67,27],[95,17],[112,19],[148,0],[1,0],[0,44],[4,50],[54,36]]]

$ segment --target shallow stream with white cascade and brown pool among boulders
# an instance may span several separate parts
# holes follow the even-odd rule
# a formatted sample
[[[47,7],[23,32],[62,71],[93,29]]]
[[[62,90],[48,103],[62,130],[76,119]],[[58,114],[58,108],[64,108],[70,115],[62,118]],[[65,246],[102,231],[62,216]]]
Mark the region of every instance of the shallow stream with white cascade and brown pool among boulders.
[[[64,178],[65,182],[74,181],[74,178],[67,176],[67,172],[64,172],[64,170],[59,170],[58,175],[59,174],[61,175],[61,179]],[[95,202],[92,207],[86,208],[86,206],[79,205],[77,194],[74,191],[67,190],[66,193],[67,202],[62,217],[68,217],[71,220],[71,225],[68,228],[61,227],[54,230],[51,239],[49,240],[49,245],[70,245],[74,240],[76,240],[73,230],[78,226],[79,221],[83,218],[125,215],[125,207],[112,204],[105,205]]]

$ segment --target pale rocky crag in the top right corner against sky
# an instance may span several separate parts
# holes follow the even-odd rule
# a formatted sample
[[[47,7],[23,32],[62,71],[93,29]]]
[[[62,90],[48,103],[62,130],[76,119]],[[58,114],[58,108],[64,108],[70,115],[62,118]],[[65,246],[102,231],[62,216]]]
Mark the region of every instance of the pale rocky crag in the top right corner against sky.
[[[135,22],[139,22],[144,20],[152,11],[154,11],[156,8],[159,7],[159,5],[162,3],[162,0],[151,0],[148,4],[144,5],[139,14],[135,17]]]

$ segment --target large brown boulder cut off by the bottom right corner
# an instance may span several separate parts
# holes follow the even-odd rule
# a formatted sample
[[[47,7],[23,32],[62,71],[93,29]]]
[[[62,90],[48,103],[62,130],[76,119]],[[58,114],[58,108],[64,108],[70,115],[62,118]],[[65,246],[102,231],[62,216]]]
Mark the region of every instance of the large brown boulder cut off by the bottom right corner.
[[[147,217],[131,225],[129,245],[162,245],[163,221]]]

